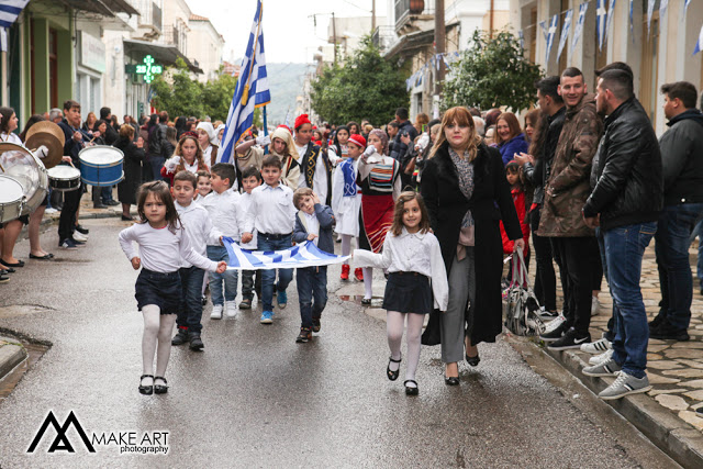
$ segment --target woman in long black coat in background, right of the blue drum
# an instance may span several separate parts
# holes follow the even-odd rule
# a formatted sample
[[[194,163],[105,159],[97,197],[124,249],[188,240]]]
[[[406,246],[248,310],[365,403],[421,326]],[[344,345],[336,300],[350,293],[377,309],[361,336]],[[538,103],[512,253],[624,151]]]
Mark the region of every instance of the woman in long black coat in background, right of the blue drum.
[[[142,185],[142,163],[146,155],[144,153],[144,139],[134,139],[134,127],[130,124],[122,124],[120,136],[114,143],[115,148],[124,153],[124,179],[118,185],[118,199],[122,202],[122,220],[132,220],[130,205],[136,204],[136,191]]]

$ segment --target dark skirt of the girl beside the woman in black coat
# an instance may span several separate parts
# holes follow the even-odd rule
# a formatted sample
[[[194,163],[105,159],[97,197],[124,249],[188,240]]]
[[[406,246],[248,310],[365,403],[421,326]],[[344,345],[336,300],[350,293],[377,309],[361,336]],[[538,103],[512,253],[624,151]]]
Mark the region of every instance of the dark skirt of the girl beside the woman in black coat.
[[[432,312],[429,278],[417,272],[391,272],[386,283],[383,309],[399,313],[428,314]]]

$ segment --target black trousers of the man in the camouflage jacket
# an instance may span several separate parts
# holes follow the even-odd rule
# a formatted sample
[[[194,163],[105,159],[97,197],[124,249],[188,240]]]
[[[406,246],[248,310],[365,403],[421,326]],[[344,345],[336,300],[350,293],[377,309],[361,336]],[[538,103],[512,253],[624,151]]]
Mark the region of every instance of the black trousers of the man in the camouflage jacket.
[[[591,324],[593,263],[589,255],[593,254],[592,238],[591,236],[554,237],[551,241],[561,258],[565,310],[568,311],[566,324],[576,328],[579,336],[583,336],[589,333]]]

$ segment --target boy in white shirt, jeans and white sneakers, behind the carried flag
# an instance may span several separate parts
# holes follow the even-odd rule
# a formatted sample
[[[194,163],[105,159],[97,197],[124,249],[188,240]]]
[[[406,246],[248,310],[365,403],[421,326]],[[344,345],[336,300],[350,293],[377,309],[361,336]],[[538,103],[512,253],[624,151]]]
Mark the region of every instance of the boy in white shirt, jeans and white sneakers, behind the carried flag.
[[[208,209],[212,223],[222,235],[238,243],[244,223],[244,210],[241,206],[239,193],[232,190],[236,178],[234,166],[228,163],[217,163],[212,166],[210,174],[212,192],[202,200],[201,204]],[[230,264],[230,256],[224,246],[209,244],[208,258]],[[237,315],[237,305],[234,302],[237,297],[237,278],[238,272],[233,269],[224,273],[210,272],[210,298],[212,299],[210,319],[221,320],[223,310],[227,317]]]

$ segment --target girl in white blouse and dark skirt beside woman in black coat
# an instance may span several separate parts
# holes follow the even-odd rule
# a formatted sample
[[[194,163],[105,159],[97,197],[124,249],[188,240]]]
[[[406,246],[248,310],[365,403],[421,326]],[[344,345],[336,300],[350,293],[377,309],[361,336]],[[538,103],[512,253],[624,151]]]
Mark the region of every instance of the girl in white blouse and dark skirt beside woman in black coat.
[[[354,259],[361,267],[376,267],[389,272],[383,309],[387,310],[391,357],[386,375],[395,381],[400,373],[400,344],[408,319],[405,394],[417,395],[415,370],[420,362],[420,337],[425,314],[433,308],[446,311],[449,298],[439,242],[429,231],[429,217],[422,196],[410,191],[401,193],[395,202],[393,224],[383,242],[383,253],[355,249]]]

